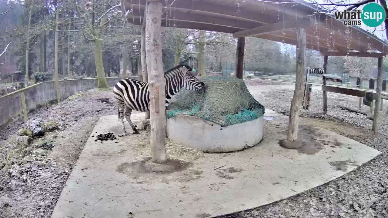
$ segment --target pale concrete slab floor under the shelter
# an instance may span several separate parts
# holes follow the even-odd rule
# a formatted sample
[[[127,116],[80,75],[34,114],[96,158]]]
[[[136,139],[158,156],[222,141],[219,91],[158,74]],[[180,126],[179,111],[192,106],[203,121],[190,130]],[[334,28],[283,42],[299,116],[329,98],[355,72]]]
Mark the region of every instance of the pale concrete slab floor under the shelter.
[[[133,114],[139,123],[144,116]],[[381,152],[336,133],[299,126],[299,150],[279,146],[288,117],[266,109],[264,138],[244,151],[204,153],[169,173],[150,173],[149,153],[132,145],[139,135],[95,142],[90,137],[55,206],[52,218],[195,218],[256,208],[322,185]],[[102,116],[92,135],[120,134],[117,115]],[[141,132],[144,134],[145,132]],[[221,167],[221,168],[220,168]],[[219,168],[219,169],[216,169]]]

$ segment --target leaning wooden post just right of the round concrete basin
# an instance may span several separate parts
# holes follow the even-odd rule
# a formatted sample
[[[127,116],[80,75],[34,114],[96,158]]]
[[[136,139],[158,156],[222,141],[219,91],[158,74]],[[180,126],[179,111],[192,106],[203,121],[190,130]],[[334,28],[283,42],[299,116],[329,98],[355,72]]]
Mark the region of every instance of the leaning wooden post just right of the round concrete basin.
[[[306,29],[296,28],[296,81],[294,96],[291,101],[288,122],[287,141],[295,142],[298,139],[299,108],[306,84]]]

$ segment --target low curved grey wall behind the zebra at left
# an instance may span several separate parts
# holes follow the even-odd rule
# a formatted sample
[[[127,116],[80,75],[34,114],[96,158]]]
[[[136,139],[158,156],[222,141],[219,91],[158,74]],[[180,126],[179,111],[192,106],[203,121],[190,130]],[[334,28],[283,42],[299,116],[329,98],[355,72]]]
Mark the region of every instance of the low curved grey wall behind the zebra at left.
[[[108,85],[113,87],[123,78],[124,77],[109,77],[106,78],[106,80]],[[136,79],[136,77],[129,78]],[[97,78],[59,80],[59,87],[61,90],[61,100],[64,100],[77,92],[97,88]],[[26,99],[27,113],[34,111],[39,107],[57,102],[55,81],[37,83],[30,87],[4,95],[0,97],[0,128],[5,128],[10,123],[24,117],[21,97],[23,92]]]

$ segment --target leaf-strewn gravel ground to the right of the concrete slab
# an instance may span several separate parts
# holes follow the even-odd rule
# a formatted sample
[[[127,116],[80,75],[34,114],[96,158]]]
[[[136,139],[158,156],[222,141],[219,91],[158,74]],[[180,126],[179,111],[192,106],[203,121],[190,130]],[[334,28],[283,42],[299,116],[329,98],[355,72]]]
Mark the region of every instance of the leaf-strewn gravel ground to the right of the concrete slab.
[[[247,82],[252,95],[266,108],[289,114],[294,83],[254,86]],[[275,100],[274,100],[275,99]],[[371,131],[372,121],[365,115],[341,110],[338,105],[358,109],[358,98],[337,93],[327,93],[327,115],[322,114],[322,91],[314,85],[308,111],[300,111],[300,123],[326,128],[373,147],[382,155],[356,170],[305,193],[260,208],[242,211],[219,218],[383,218],[388,217],[388,158],[387,125],[384,111],[379,115],[379,133]],[[359,109],[369,112],[369,107]]]

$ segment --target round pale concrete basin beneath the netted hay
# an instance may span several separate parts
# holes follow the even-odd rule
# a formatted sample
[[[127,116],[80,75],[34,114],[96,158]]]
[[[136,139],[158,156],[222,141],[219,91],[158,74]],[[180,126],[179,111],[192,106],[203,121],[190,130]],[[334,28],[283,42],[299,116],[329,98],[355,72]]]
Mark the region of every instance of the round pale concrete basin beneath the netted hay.
[[[239,151],[263,139],[263,116],[258,119],[220,126],[194,116],[178,114],[167,119],[171,141],[204,152]]]

